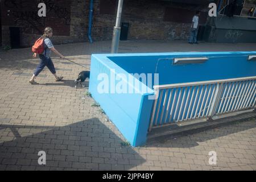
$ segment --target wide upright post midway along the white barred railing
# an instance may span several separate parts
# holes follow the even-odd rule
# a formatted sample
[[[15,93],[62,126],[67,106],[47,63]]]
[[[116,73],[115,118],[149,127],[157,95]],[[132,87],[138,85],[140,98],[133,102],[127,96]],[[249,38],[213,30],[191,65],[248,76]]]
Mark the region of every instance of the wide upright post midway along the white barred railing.
[[[217,109],[216,107],[218,105],[218,102],[220,102],[223,85],[224,85],[223,83],[217,84],[217,88],[215,90],[212,105],[210,106],[209,115],[207,117],[208,121],[212,121],[213,115],[216,113],[216,109]]]

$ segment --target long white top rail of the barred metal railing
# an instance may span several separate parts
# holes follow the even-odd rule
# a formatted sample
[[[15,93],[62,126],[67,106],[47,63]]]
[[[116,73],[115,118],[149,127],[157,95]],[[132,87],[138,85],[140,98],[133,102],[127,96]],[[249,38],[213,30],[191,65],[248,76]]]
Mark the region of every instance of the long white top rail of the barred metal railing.
[[[196,82],[187,82],[187,83],[181,83],[181,84],[154,85],[153,88],[154,89],[171,89],[171,88],[180,88],[184,86],[221,84],[225,82],[245,81],[245,80],[254,80],[254,79],[256,79],[256,76],[229,78],[224,80],[196,81]]]

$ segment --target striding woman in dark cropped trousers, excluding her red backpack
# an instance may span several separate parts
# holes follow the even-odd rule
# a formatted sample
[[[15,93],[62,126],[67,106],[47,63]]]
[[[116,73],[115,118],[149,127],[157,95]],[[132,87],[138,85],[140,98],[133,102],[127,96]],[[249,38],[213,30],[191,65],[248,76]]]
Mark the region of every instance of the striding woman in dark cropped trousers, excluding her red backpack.
[[[61,53],[59,53],[53,47],[53,44],[52,44],[51,40],[49,39],[51,37],[52,37],[52,28],[46,27],[44,29],[44,34],[41,37],[43,39],[44,51],[42,54],[39,54],[40,64],[38,65],[38,67],[36,67],[34,75],[28,81],[28,82],[30,82],[30,84],[38,84],[37,82],[35,82],[35,78],[39,75],[40,72],[42,72],[42,70],[46,66],[49,69],[49,71],[51,71],[51,73],[55,76],[55,81],[61,81],[63,79],[62,76],[59,77],[56,75],[55,67],[54,67],[53,62],[50,57],[51,51],[53,51],[56,55],[60,56],[63,59],[65,57],[63,55],[61,55]],[[33,57],[36,57],[36,53],[34,53]]]

